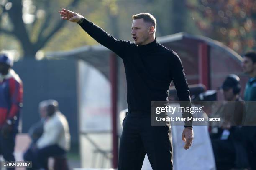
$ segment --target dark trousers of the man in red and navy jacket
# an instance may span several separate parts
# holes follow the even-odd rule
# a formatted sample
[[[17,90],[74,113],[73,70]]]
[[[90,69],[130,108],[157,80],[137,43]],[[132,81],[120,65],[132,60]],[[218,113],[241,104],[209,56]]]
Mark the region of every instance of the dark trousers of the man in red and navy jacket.
[[[3,155],[5,161],[15,161],[13,152],[15,145],[16,133],[9,133],[7,136],[3,136],[0,133],[0,155]],[[1,167],[0,167],[1,169]],[[14,170],[15,168],[7,168],[7,170]]]

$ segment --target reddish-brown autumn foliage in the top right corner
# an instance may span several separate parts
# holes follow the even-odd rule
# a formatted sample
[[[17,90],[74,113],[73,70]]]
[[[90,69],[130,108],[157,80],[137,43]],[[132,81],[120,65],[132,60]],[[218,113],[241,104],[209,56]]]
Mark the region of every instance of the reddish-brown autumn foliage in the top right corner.
[[[187,0],[187,6],[207,37],[240,54],[256,50],[255,0]]]

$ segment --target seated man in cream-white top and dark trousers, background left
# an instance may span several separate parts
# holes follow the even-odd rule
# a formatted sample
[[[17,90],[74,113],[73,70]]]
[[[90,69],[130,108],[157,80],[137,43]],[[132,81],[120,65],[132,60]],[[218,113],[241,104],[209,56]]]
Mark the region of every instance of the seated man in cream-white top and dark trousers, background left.
[[[49,157],[65,155],[70,148],[69,125],[66,117],[59,111],[56,100],[47,100],[47,103],[44,132],[36,142],[36,156],[35,160],[32,160],[36,163],[34,168],[46,170]]]

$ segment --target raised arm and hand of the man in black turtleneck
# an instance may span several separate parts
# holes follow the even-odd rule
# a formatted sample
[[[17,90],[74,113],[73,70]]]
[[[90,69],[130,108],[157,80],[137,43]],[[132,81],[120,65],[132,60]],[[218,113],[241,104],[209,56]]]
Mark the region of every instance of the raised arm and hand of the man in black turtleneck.
[[[78,23],[84,29],[84,31],[86,31],[93,39],[95,39],[101,45],[112,50],[120,57],[122,57],[123,52],[125,52],[125,47],[130,44],[127,41],[114,38],[112,35],[105,32],[102,28],[93,24],[91,21],[87,20],[78,13],[74,13],[66,9],[62,9],[61,11],[59,11],[59,13],[62,16],[61,18],[63,20]]]

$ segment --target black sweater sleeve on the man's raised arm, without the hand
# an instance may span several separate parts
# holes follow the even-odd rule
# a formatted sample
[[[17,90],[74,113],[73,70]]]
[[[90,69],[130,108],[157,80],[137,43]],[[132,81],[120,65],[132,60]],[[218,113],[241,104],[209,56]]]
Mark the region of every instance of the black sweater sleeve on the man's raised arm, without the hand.
[[[93,24],[91,21],[84,18],[83,23],[80,26],[87,32],[93,39],[99,42],[101,45],[107,47],[111,51],[115,52],[119,57],[123,58],[125,48],[132,43],[129,41],[118,40],[112,35],[105,32],[99,26]]]

